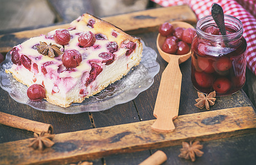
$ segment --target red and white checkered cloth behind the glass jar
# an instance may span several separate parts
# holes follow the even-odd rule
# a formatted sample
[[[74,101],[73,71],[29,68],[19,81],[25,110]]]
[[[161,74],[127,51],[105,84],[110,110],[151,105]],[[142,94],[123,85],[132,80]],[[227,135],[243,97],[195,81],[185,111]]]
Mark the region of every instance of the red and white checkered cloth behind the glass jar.
[[[168,7],[187,4],[197,18],[211,14],[211,5],[217,3],[223,8],[224,14],[232,15],[243,23],[243,36],[247,41],[247,67],[256,75],[256,2],[255,0],[151,0]]]

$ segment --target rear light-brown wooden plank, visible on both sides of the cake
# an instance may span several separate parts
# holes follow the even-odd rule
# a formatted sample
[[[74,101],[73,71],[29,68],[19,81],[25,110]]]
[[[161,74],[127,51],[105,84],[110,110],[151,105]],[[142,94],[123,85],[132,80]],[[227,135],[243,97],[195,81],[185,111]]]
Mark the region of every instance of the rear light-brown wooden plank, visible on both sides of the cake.
[[[195,24],[197,21],[195,14],[187,5],[149,9],[140,12],[105,17],[102,19],[112,23],[129,34],[138,34],[147,30],[156,30],[156,28],[165,21],[182,20],[191,24]],[[68,27],[69,23],[0,35],[0,52],[7,53],[13,46],[18,45],[27,38],[47,34],[47,32],[54,29],[67,29]]]

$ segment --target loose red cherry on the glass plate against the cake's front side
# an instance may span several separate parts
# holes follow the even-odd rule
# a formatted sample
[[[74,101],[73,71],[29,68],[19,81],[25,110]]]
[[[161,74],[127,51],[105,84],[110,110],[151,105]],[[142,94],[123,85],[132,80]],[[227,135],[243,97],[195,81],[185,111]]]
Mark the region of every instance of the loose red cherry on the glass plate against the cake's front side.
[[[45,88],[40,84],[33,84],[26,91],[30,100],[39,101],[46,97]]]

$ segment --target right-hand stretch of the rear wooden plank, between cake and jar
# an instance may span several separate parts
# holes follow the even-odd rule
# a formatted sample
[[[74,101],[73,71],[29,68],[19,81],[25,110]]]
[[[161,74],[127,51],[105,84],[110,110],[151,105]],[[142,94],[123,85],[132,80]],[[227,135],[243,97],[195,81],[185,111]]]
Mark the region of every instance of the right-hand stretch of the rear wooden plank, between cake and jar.
[[[105,17],[104,20],[116,25],[123,31],[133,34],[145,32],[145,29],[155,30],[166,21],[186,21],[190,24],[197,23],[197,17],[188,5],[178,5],[166,8],[155,8]],[[135,32],[135,33],[134,33]]]

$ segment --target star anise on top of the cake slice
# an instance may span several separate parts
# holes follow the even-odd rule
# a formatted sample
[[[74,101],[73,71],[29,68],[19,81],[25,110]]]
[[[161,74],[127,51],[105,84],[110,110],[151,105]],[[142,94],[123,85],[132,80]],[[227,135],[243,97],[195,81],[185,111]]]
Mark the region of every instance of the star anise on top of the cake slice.
[[[40,54],[43,54],[43,56],[54,58],[62,54],[60,50],[61,47],[57,45],[52,45],[52,43],[47,45],[46,42],[40,41],[40,45],[37,45],[36,47],[37,47],[37,52],[39,52]]]

